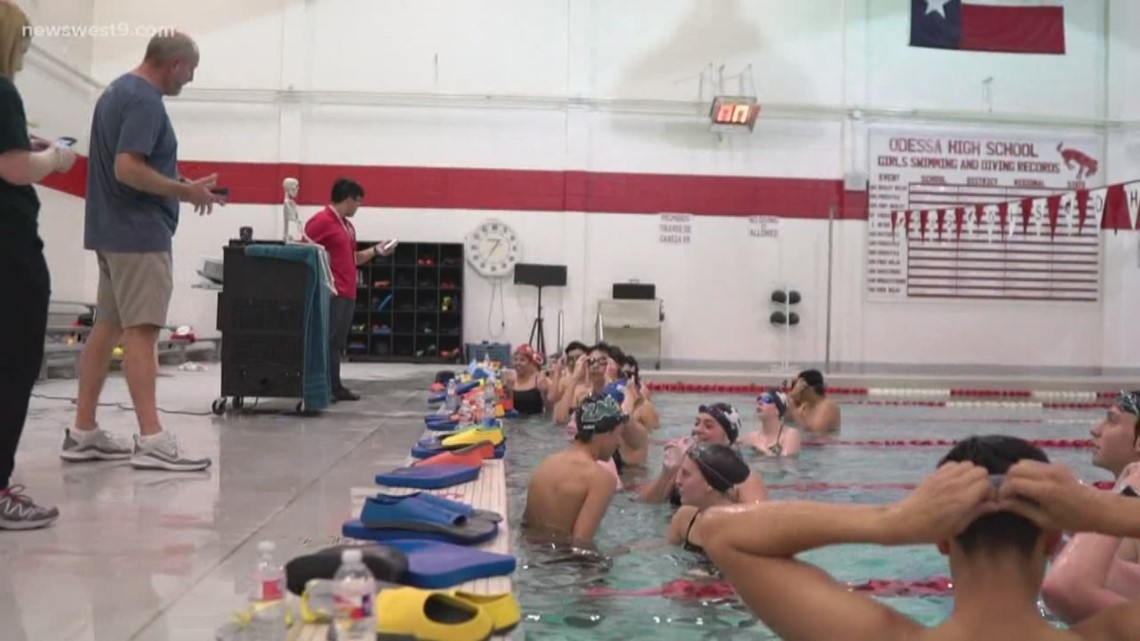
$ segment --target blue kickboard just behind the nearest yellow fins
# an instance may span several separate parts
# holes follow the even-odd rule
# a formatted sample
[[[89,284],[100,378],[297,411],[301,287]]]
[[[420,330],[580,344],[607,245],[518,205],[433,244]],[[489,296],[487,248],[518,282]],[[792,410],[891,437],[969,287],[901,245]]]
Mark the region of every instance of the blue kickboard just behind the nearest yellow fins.
[[[486,552],[451,543],[392,539],[384,543],[404,552],[408,571],[401,583],[425,590],[453,587],[469,581],[513,574],[518,561],[511,554]]]

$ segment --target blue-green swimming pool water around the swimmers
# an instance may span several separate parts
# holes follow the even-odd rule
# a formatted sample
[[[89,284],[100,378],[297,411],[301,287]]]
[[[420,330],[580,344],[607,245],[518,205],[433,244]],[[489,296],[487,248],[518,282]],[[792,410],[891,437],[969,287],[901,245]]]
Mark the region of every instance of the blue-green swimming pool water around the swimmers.
[[[752,397],[656,393],[661,429],[652,439],[661,441],[690,432],[701,403],[726,400],[744,419],[744,431],[759,429]],[[1026,411],[1008,408],[929,408],[845,404],[839,438],[960,439],[971,435],[1005,433],[1027,439],[1084,439],[1099,420],[1099,411]],[[650,480],[660,469],[662,447],[651,446],[644,478],[626,477],[598,530],[601,555],[572,557],[564,551],[530,545],[520,537],[519,521],[526,508],[531,472],[546,457],[567,446],[561,427],[545,419],[514,421],[508,427],[506,454],[507,494],[513,546],[519,558],[515,589],[523,611],[526,639],[606,640],[648,639],[777,639],[735,597],[679,599],[633,594],[658,589],[670,581],[700,581],[708,574],[700,554],[669,545],[665,535],[673,508],[648,505],[628,492],[630,485]],[[948,449],[933,447],[807,447],[797,459],[751,459],[754,470],[768,485],[806,482],[917,484],[929,474]],[[1108,479],[1096,469],[1084,448],[1051,448],[1050,460],[1070,465],[1086,480]],[[906,489],[772,489],[772,498],[807,498],[841,503],[889,503]],[[837,579],[925,579],[950,574],[945,558],[933,546],[879,547],[844,545],[800,555],[828,570]],[[715,581],[715,579],[708,579]],[[593,594],[592,592],[601,592]],[[614,594],[614,592],[619,594]],[[882,598],[899,611],[928,625],[951,611],[951,597]],[[520,634],[520,636],[522,635]]]

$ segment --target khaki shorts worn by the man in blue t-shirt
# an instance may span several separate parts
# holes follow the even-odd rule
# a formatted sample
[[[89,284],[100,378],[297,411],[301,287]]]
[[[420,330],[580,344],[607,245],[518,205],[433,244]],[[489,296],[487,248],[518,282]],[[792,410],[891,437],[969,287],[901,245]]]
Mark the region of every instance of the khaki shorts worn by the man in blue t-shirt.
[[[99,261],[97,320],[119,327],[166,324],[174,290],[170,252],[96,252]]]

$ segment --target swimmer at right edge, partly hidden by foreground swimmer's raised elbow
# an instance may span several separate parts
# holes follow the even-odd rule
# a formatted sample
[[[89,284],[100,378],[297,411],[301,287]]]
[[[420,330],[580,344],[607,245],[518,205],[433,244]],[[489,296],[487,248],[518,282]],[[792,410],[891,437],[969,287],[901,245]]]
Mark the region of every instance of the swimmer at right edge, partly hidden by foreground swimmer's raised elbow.
[[[1127,478],[1140,468],[1140,391],[1122,391],[1092,429],[1092,464],[1112,472],[1115,492],[1140,490]],[[1077,533],[1053,559],[1041,595],[1073,625],[1115,603],[1140,597],[1137,539]]]

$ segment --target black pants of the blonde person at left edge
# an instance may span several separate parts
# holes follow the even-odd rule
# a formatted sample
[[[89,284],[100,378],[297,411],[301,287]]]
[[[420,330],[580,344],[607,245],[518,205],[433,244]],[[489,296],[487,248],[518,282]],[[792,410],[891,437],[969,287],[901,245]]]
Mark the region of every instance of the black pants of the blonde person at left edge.
[[[0,251],[0,489],[8,487],[27,404],[43,364],[51,276],[43,253]]]

